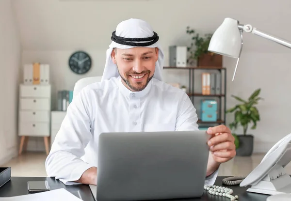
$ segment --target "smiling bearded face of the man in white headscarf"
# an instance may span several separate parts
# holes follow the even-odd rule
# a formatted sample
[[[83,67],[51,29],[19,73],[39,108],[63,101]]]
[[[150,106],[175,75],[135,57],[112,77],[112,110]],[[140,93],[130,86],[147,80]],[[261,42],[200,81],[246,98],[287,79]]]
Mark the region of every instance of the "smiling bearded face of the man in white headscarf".
[[[123,84],[134,92],[142,91],[153,77],[159,49],[150,47],[116,48],[111,54]]]

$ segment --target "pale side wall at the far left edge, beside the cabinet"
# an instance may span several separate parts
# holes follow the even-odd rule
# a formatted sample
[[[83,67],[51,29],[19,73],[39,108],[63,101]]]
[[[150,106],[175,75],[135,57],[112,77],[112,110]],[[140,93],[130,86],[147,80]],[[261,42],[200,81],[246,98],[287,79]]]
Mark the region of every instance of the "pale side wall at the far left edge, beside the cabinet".
[[[0,0],[0,165],[17,154],[18,34],[11,0]]]

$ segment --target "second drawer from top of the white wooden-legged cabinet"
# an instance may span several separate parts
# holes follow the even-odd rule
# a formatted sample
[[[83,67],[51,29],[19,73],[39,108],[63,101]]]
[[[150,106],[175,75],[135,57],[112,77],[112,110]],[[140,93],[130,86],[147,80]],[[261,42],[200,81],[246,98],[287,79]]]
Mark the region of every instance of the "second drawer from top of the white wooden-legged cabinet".
[[[21,98],[20,109],[50,110],[50,102],[48,98]]]

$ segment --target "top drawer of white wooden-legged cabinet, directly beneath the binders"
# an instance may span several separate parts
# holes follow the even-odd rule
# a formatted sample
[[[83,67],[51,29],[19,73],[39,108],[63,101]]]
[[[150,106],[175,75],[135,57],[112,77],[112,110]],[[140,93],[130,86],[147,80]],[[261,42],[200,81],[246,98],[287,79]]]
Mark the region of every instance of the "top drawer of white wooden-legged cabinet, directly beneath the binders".
[[[20,85],[20,97],[50,97],[50,85]]]

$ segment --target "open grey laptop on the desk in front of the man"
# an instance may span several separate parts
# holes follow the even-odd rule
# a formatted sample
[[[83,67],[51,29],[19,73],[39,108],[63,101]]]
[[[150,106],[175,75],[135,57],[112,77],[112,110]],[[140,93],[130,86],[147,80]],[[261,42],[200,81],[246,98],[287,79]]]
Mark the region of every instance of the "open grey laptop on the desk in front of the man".
[[[102,133],[97,201],[201,197],[210,136],[206,131]]]

